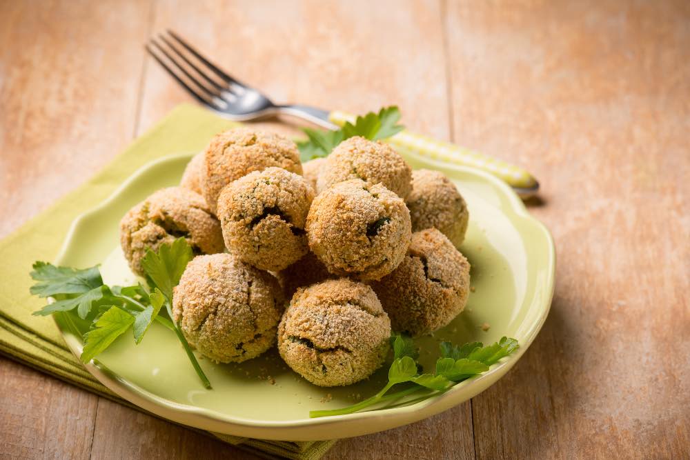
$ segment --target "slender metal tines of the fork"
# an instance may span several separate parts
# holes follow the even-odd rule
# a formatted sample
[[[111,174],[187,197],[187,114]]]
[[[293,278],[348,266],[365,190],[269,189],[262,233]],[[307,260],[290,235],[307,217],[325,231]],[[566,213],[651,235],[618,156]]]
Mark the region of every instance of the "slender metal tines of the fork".
[[[146,50],[197,101],[223,110],[244,92],[242,83],[199,54],[172,30],[146,44]]]

